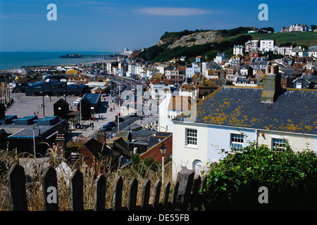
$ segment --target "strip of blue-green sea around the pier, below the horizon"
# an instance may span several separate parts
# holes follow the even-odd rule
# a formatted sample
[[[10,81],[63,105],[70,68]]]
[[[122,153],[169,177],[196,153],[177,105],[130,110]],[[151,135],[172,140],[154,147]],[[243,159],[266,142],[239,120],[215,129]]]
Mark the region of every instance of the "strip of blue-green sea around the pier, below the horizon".
[[[22,66],[68,65],[105,60],[103,58],[59,58],[67,54],[111,55],[108,51],[0,51],[0,70],[18,70]]]

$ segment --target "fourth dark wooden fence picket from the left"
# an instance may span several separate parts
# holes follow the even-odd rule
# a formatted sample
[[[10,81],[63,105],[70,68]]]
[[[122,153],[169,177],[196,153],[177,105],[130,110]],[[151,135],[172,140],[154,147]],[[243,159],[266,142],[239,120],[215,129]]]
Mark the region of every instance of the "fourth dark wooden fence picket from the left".
[[[106,204],[106,176],[99,174],[94,186],[94,211],[103,211]]]

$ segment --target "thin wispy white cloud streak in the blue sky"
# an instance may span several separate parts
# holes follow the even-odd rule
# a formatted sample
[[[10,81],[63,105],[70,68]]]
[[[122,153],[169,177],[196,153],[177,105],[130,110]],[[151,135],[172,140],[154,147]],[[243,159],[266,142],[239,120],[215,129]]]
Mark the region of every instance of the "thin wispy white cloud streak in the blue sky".
[[[170,8],[170,7],[151,7],[151,8],[139,8],[138,13],[144,13],[148,15],[175,15],[175,16],[187,16],[187,15],[203,15],[211,13],[208,10],[201,8]]]

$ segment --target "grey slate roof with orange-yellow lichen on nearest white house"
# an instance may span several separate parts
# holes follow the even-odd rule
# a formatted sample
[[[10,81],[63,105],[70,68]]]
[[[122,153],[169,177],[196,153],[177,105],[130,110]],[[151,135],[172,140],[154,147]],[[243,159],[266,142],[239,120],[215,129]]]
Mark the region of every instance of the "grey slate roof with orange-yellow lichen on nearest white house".
[[[284,89],[274,103],[261,103],[261,94],[261,88],[225,86],[194,105],[192,118],[187,111],[173,120],[317,135],[316,90]]]

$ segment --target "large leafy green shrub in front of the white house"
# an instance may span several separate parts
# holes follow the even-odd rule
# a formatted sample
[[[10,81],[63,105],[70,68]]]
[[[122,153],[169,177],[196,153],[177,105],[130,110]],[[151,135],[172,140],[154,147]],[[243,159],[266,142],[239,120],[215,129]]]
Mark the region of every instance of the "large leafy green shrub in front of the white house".
[[[287,145],[283,153],[267,146],[242,148],[209,165],[206,210],[316,210],[317,155]],[[259,187],[268,188],[268,204],[259,203]]]

